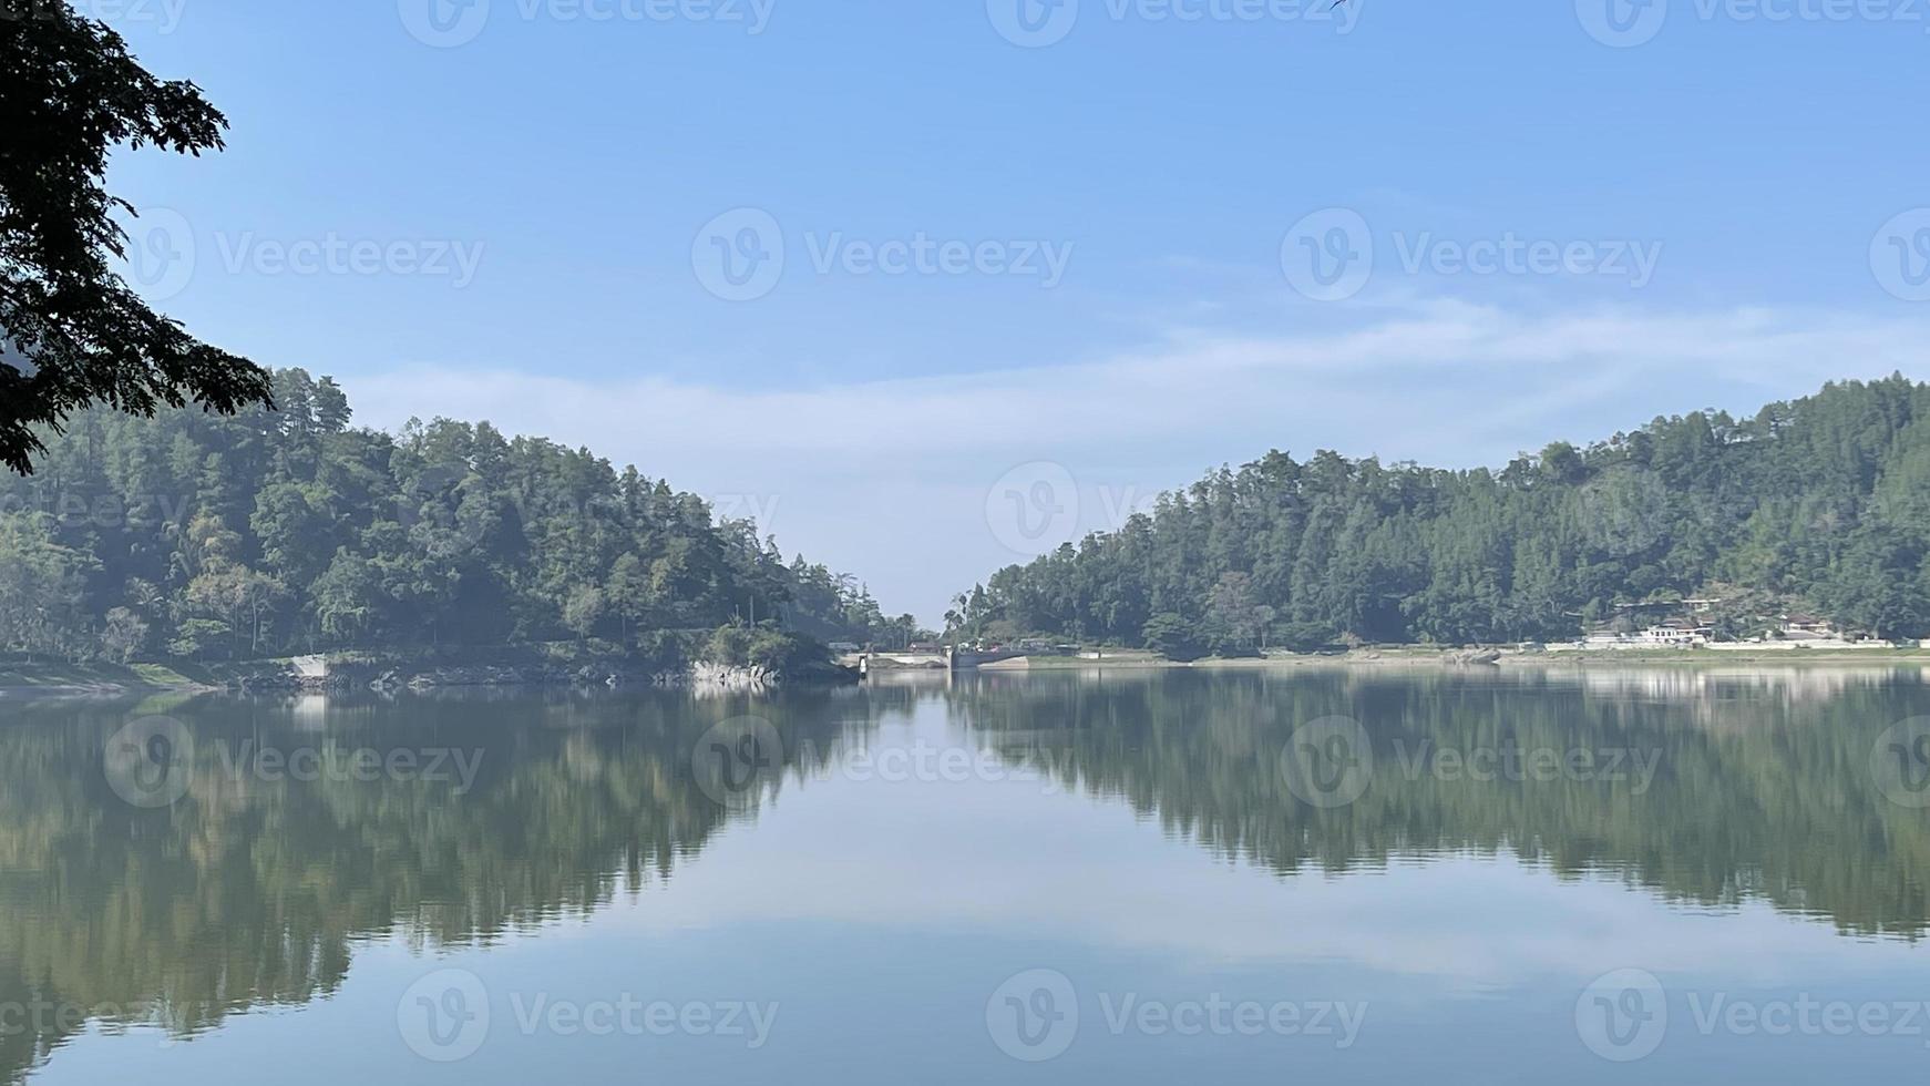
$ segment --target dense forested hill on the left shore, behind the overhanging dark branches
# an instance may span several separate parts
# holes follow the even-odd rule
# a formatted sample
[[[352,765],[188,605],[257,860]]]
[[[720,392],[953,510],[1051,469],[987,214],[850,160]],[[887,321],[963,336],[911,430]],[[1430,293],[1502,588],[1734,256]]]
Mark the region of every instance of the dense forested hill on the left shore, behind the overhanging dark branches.
[[[264,658],[573,640],[743,654],[778,623],[903,642],[847,577],[784,563],[637,469],[486,422],[351,426],[328,378],[276,374],[276,411],[91,411],[0,478],[0,650]],[[724,637],[716,637],[720,627]],[[737,660],[741,662],[741,660]]]

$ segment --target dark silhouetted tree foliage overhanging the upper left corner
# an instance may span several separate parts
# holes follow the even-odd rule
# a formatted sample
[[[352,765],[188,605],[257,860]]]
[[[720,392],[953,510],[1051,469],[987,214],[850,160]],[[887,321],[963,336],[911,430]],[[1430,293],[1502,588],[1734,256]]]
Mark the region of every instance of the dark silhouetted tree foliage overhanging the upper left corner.
[[[127,255],[112,216],[135,208],[104,187],[108,152],[218,150],[222,114],[68,4],[0,0],[0,463],[31,473],[37,428],[91,403],[264,401],[264,370],[149,309],[112,268]]]

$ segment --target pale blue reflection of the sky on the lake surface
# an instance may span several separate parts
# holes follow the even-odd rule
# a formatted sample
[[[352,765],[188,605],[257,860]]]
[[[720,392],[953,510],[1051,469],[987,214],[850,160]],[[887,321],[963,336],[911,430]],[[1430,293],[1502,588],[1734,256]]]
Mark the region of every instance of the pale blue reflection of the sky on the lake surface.
[[[969,743],[946,706],[886,718],[872,750]],[[1704,1034],[1727,999],[1926,999],[1924,951],[1851,939],[1760,901],[1685,907],[1608,876],[1559,878],[1513,856],[1395,858],[1293,878],[1212,856],[1121,802],[1029,779],[786,781],[668,882],[488,949],[357,955],[332,997],[230,1018],[185,1044],[154,1030],[85,1036],[37,1074],[112,1082],[1170,1082],[1175,1078],[1446,1082],[1756,1082],[1916,1074],[1918,1036]],[[396,1001],[459,966],[492,993],[486,1045],[465,1063],[417,1059]],[[1669,1032],[1635,1065],[1586,1051],[1575,1001],[1602,972],[1668,986]],[[1079,991],[1065,1055],[1006,1059],[986,997],[1013,972],[1054,968]],[[776,1001],[770,1042],[525,1036],[517,1003]],[[1357,1042],[1116,1034],[1123,995],[1185,1001],[1365,1001]],[[1693,1003],[1691,995],[1700,1003]],[[1106,1003],[1102,1001],[1102,997]]]

